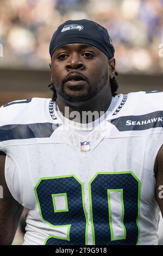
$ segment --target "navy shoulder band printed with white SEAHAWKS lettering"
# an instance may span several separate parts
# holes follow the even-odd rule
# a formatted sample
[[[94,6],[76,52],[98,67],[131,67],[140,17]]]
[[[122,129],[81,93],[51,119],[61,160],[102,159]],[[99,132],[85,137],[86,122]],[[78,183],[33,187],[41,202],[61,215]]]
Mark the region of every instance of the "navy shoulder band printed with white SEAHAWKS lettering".
[[[156,111],[145,115],[128,115],[111,120],[119,131],[143,131],[156,127],[163,127],[163,111]]]

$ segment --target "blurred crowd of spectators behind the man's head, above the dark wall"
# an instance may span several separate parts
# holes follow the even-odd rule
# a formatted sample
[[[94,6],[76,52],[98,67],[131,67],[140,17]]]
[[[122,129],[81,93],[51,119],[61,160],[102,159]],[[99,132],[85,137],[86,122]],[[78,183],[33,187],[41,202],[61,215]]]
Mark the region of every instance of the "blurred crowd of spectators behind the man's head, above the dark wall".
[[[52,34],[60,23],[76,19],[94,20],[108,29],[117,71],[163,70],[163,0],[1,0],[0,66],[48,69]]]

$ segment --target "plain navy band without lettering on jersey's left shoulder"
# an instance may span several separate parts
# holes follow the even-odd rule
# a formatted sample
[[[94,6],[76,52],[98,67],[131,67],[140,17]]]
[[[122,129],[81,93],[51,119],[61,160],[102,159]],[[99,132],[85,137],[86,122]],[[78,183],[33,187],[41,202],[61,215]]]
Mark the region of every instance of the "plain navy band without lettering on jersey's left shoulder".
[[[0,142],[11,139],[48,138],[59,126],[52,123],[4,125],[0,127]]]

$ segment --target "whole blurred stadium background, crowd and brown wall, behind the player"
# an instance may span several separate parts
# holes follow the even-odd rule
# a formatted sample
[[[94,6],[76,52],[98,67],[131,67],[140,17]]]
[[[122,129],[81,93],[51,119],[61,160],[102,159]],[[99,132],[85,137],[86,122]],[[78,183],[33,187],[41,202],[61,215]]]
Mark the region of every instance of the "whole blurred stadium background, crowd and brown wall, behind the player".
[[[52,96],[49,41],[60,23],[76,19],[108,29],[116,49],[118,93],[162,90],[163,0],[1,0],[0,105]],[[21,243],[18,229],[14,244]]]

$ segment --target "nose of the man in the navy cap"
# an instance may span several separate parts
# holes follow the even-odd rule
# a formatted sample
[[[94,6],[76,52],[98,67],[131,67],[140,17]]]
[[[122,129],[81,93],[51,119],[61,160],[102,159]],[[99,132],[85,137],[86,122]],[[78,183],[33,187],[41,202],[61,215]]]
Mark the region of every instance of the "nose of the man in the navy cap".
[[[80,56],[77,53],[73,53],[69,58],[68,62],[66,64],[67,71],[70,71],[72,69],[84,69],[84,63],[82,62]]]

